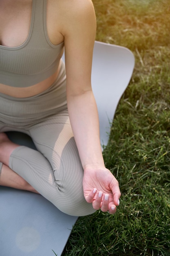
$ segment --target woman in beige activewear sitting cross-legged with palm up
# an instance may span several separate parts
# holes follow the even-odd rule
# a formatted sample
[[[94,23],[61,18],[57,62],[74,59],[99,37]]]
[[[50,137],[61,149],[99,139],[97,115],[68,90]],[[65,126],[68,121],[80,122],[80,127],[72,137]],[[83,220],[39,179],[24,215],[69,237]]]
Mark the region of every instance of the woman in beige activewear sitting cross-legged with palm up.
[[[91,0],[0,0],[0,24],[0,185],[74,216],[115,213],[119,184],[104,166],[91,89]],[[38,151],[11,142],[9,130]]]

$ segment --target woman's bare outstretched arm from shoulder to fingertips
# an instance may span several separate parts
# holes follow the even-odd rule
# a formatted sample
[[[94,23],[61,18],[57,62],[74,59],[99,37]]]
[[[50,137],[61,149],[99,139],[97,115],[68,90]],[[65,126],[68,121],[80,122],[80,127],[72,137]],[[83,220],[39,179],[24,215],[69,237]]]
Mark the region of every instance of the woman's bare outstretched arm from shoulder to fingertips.
[[[64,35],[68,113],[84,168],[84,196],[94,209],[115,213],[120,190],[104,166],[97,106],[91,88],[96,20],[91,0],[67,1]],[[97,191],[97,192],[96,192]]]

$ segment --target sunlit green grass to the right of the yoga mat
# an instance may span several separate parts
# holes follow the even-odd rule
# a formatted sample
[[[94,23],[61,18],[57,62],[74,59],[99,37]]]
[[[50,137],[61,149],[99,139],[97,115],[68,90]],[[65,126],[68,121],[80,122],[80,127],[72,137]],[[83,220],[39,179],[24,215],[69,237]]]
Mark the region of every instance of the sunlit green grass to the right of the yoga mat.
[[[136,61],[104,150],[122,196],[115,215],[79,218],[62,255],[170,256],[170,2],[93,3],[96,40]]]

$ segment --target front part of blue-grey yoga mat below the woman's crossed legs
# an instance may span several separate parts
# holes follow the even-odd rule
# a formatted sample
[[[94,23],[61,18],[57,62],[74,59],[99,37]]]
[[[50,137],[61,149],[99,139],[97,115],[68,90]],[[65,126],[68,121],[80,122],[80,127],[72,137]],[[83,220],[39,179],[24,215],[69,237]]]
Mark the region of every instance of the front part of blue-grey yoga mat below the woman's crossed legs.
[[[76,220],[41,195],[0,187],[0,256],[60,256]]]

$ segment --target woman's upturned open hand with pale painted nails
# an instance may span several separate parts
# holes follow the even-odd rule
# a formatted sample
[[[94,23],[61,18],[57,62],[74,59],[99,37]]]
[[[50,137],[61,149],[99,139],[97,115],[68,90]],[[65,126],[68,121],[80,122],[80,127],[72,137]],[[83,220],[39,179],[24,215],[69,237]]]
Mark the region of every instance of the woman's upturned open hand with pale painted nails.
[[[116,212],[121,196],[119,183],[107,168],[86,168],[83,178],[84,197],[93,208]]]

